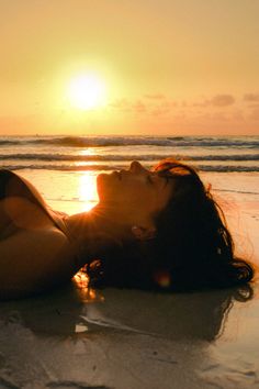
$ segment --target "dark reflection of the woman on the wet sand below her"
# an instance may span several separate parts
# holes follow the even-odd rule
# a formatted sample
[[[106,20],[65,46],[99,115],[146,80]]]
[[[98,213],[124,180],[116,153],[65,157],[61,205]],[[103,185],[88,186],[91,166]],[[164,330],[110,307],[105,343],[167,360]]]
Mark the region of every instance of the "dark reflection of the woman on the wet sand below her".
[[[16,312],[34,333],[72,335],[86,324],[88,332],[110,327],[170,340],[213,341],[221,336],[235,301],[252,297],[249,286],[192,293],[153,293],[137,290],[88,288],[83,273],[71,286],[48,296],[2,303],[8,322]],[[15,315],[15,314],[14,314]]]

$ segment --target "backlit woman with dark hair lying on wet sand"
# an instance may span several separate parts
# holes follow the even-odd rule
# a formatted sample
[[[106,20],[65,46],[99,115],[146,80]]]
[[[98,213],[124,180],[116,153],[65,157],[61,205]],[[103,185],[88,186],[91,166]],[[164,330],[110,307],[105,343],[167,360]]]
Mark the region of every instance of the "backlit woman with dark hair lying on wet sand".
[[[0,297],[43,292],[85,266],[92,285],[190,290],[244,285],[224,215],[196,171],[176,160],[101,174],[99,203],[53,211],[16,174],[0,170]]]

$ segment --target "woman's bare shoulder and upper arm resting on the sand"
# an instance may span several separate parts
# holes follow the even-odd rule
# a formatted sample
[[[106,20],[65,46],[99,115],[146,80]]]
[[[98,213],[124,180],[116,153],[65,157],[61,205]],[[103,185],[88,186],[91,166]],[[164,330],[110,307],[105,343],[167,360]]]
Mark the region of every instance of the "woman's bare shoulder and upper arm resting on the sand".
[[[74,246],[55,226],[20,230],[0,241],[0,300],[68,281],[78,270]]]

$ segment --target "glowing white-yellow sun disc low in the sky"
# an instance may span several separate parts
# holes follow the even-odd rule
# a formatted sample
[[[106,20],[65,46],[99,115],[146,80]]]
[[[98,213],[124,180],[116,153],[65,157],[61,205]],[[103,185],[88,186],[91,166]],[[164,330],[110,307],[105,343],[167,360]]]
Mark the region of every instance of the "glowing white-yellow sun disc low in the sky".
[[[87,111],[105,103],[105,82],[98,75],[78,75],[68,82],[67,96],[74,108]]]

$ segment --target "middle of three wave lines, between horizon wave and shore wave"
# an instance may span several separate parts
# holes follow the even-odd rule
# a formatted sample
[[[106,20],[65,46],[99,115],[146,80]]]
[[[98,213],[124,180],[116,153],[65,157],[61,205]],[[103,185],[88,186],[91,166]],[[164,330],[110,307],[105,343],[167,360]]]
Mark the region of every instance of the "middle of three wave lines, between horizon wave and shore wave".
[[[173,158],[178,160],[221,160],[221,162],[249,162],[259,160],[259,154],[219,154],[219,155],[181,155],[181,154],[48,154],[48,153],[21,153],[21,154],[2,154],[0,160],[70,160],[70,162],[113,162],[113,160],[161,160],[165,158]]]

